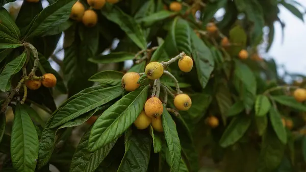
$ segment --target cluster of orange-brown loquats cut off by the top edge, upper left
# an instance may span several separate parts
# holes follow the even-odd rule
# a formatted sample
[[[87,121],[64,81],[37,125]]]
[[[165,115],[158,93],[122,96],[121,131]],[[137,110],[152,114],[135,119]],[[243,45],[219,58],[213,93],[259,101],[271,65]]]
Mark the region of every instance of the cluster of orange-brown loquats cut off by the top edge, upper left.
[[[87,0],[89,9],[85,10],[84,5],[77,1],[71,8],[70,18],[82,21],[86,27],[94,27],[98,22],[98,15],[94,10],[102,9],[106,3],[115,4],[119,0]]]

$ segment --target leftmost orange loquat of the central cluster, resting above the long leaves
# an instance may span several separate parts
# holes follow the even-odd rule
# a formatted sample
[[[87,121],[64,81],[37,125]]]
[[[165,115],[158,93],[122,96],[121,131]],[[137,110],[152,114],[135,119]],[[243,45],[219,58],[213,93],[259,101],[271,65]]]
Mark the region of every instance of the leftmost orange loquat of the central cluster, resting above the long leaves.
[[[126,91],[136,90],[140,86],[140,84],[137,84],[139,78],[140,75],[137,72],[125,73],[121,79],[122,87],[124,87]]]

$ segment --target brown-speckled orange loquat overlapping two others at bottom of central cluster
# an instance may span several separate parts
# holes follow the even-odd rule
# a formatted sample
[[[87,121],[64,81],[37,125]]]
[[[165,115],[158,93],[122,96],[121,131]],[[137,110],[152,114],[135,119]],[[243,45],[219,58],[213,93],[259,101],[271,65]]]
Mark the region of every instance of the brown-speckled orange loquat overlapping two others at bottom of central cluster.
[[[149,117],[161,116],[164,111],[163,103],[158,99],[158,97],[151,97],[145,102],[144,111]]]

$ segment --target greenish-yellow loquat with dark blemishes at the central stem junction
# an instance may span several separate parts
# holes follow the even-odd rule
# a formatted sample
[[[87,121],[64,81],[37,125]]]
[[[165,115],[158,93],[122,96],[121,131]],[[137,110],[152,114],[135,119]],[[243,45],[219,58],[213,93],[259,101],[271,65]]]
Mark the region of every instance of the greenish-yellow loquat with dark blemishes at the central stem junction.
[[[159,79],[164,73],[164,66],[160,62],[150,62],[145,66],[146,76],[150,80]]]

